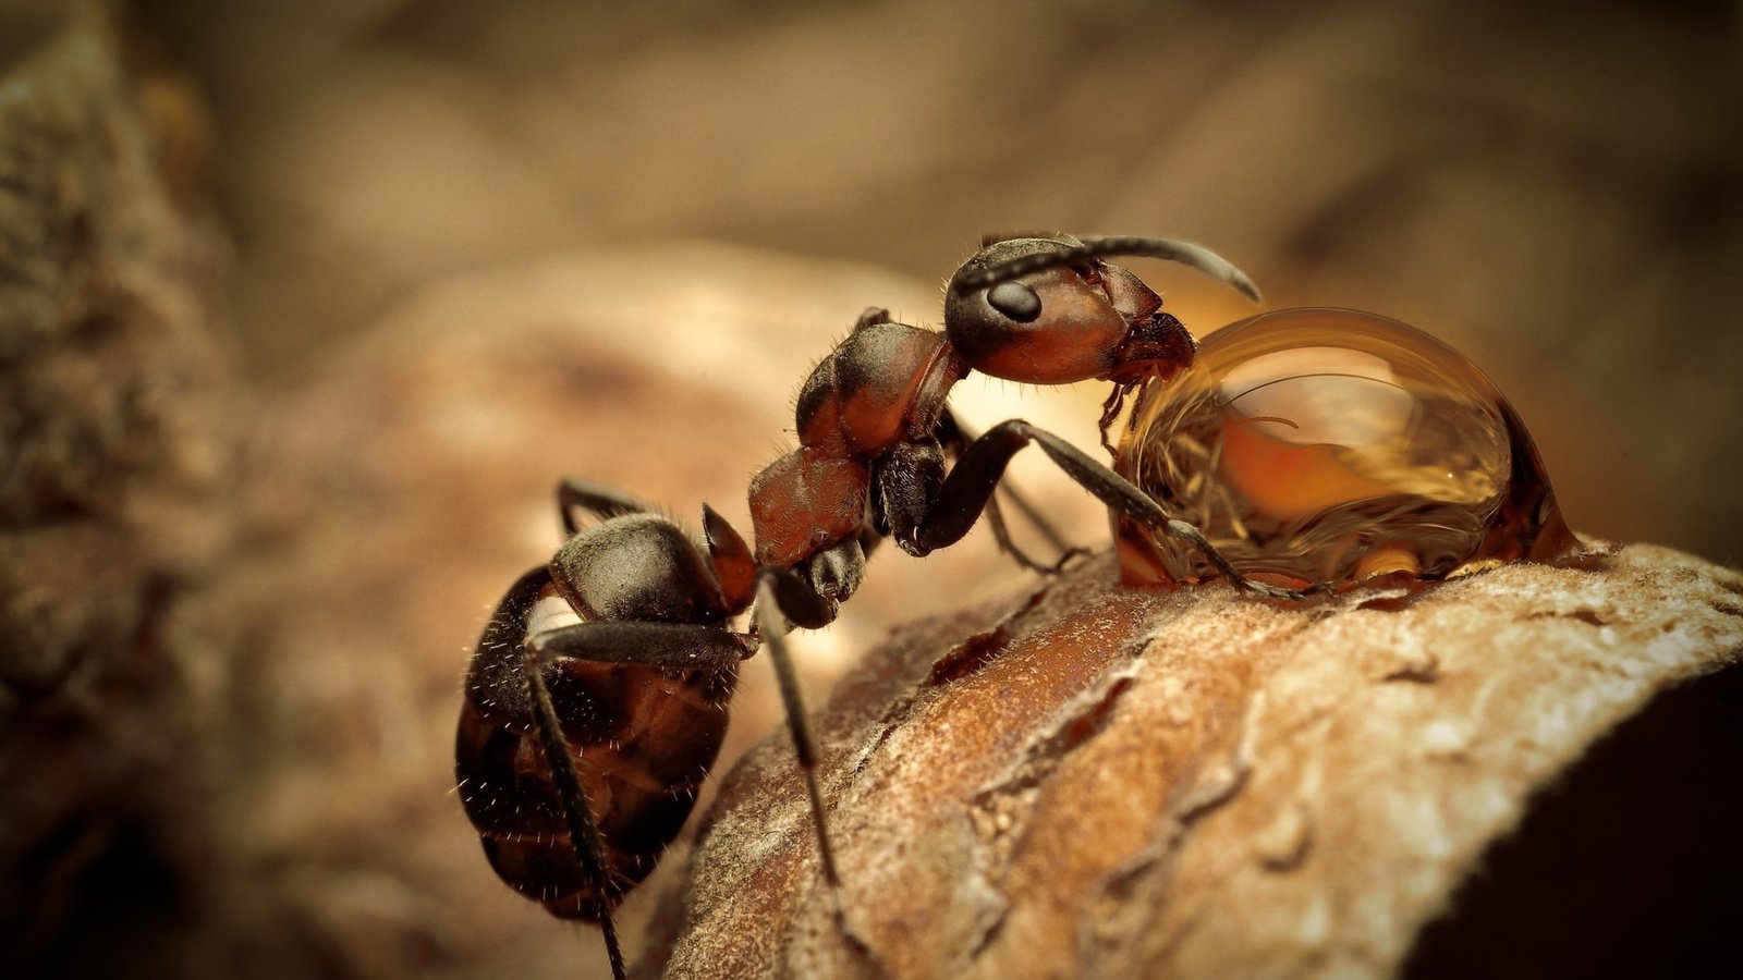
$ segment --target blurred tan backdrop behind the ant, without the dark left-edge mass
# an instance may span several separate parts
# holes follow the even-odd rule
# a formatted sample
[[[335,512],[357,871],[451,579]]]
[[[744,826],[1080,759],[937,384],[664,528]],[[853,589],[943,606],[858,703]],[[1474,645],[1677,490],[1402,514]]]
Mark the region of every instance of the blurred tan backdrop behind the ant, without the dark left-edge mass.
[[[249,786],[225,806],[267,823],[225,846],[302,909],[281,973],[603,966],[586,933],[497,912],[458,807],[418,802],[446,790],[467,640],[554,544],[560,473],[743,523],[809,364],[866,305],[936,326],[981,232],[1185,237],[1269,307],[1414,323],[1511,394],[1577,530],[1743,551],[1736,3],[119,9],[192,94],[169,103],[169,190],[223,228],[218,319],[251,392],[234,419],[253,530],[218,595],[254,610],[260,645],[225,670],[267,734],[227,741],[248,766],[213,783]],[[64,21],[12,0],[0,58]],[[1250,312],[1189,272],[1140,274],[1201,335]],[[1025,413],[1093,445],[1103,391],[964,394],[981,424]],[[1023,480],[1105,541],[1056,474]],[[437,525],[437,549],[406,530]],[[863,617],[810,640],[819,678],[959,603],[939,582],[1009,586],[974,548],[880,556]],[[424,659],[396,666],[399,645]],[[744,694],[737,745],[772,704]],[[383,771],[399,809],[373,806]],[[401,854],[340,847],[333,806],[354,844],[437,830]],[[478,896],[448,902],[460,888]],[[227,928],[258,959],[199,963],[272,961],[277,912],[248,909]]]

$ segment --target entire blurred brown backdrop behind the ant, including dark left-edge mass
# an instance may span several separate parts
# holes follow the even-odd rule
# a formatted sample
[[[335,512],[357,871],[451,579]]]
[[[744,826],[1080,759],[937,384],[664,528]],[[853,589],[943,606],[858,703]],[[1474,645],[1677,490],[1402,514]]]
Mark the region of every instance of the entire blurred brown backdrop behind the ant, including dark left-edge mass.
[[[0,10],[0,966],[601,968],[446,795],[549,487],[744,527],[809,364],[872,303],[936,324],[983,230],[1197,239],[1271,305],[1422,326],[1579,530],[1743,546],[1727,5],[122,14]],[[1201,333],[1248,312],[1140,270]],[[966,413],[1093,445],[1098,385],[1016,394]],[[802,656],[828,678],[1013,575],[880,555]],[[729,753],[776,717],[763,670]]]

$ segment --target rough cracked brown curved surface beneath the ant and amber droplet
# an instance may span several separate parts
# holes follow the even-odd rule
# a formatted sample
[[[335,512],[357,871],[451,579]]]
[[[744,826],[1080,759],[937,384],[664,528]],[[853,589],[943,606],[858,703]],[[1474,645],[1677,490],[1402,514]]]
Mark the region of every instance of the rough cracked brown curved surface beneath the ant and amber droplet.
[[[1740,595],[1647,546],[1300,609],[1103,558],[901,628],[814,718],[847,915],[892,977],[1734,964]],[[783,734],[668,907],[650,973],[866,966]]]

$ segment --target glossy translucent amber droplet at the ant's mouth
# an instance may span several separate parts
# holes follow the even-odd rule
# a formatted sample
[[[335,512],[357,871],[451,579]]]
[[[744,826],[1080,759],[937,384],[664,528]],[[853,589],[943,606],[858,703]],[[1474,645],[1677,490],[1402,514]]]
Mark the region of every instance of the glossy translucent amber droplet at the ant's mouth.
[[[1441,579],[1577,546],[1518,413],[1464,354],[1373,314],[1279,310],[1199,344],[1133,410],[1116,469],[1236,568],[1309,582]],[[1204,577],[1119,527],[1128,577]]]

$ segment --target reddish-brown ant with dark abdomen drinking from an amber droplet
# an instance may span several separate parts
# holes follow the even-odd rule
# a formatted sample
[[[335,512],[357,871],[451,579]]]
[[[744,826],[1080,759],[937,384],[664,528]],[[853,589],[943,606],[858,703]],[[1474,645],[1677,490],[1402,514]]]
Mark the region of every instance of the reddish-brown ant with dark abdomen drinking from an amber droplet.
[[[598,921],[614,977],[624,977],[624,961],[612,909],[688,816],[720,750],[737,664],[763,645],[837,926],[870,957],[842,912],[816,743],[784,635],[833,623],[885,537],[924,556],[960,541],[983,513],[1018,563],[1061,567],[1074,549],[1041,565],[1011,542],[999,513],[995,490],[1023,446],[1039,445],[1116,514],[1196,548],[1243,591],[1290,600],[1323,591],[1245,577],[1196,527],[1044,429],[1013,419],[973,436],[952,417],[946,396],[971,370],[1032,384],[1107,380],[1114,391],[1100,427],[1112,450],[1109,427],[1129,392],[1173,378],[1196,350],[1154,289],[1103,262],[1116,255],[1180,262],[1258,300],[1236,267],[1171,239],[985,241],[950,281],[943,331],[868,309],[812,370],[798,394],[800,446],[749,485],[755,551],[708,506],[697,542],[633,497],[558,487],[568,539],[514,582],[479,638],[457,772],[497,874],[554,915]],[[600,523],[580,528],[577,511]],[[1044,520],[1037,525],[1060,544]],[[749,630],[734,631],[746,610]]]

